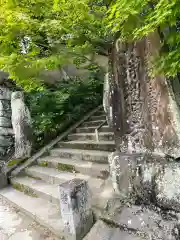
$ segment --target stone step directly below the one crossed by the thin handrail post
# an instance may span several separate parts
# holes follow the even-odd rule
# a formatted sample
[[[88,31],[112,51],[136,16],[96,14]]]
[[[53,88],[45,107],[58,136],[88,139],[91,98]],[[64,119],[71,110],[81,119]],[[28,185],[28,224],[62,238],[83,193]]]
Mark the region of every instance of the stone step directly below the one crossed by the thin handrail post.
[[[58,147],[71,149],[102,150],[113,152],[115,150],[114,141],[67,141],[59,142]]]

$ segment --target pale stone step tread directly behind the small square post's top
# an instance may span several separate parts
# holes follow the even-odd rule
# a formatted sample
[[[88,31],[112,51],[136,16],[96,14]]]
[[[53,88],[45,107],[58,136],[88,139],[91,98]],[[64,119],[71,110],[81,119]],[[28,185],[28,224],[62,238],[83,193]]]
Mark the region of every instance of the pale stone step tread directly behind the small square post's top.
[[[103,179],[92,178],[81,173],[58,171],[57,169],[48,167],[32,166],[26,168],[25,172],[28,176],[39,178],[49,184],[61,184],[62,182],[73,180],[74,178],[84,179],[87,180],[93,194],[99,193],[104,184]]]

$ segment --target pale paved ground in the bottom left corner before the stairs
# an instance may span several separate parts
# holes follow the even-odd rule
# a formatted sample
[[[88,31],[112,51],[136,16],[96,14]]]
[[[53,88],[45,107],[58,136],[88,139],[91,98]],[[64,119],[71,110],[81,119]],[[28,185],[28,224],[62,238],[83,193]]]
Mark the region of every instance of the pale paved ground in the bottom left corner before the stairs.
[[[0,240],[58,240],[0,197]]]

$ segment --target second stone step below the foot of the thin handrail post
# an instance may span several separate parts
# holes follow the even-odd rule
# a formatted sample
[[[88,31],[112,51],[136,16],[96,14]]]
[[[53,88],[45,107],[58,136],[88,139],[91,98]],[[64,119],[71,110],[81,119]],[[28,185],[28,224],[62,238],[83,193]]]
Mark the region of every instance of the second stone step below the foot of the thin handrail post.
[[[69,158],[97,163],[108,163],[108,155],[111,152],[97,150],[79,150],[70,148],[54,148],[50,151],[53,157]]]

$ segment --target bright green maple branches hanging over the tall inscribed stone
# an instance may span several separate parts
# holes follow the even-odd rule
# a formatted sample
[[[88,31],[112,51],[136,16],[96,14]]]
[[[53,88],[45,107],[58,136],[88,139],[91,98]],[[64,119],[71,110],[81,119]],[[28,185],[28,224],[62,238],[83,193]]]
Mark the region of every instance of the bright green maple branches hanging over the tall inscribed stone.
[[[138,40],[158,31],[162,49],[154,61],[154,73],[174,77],[180,71],[179,16],[178,0],[119,0],[112,1],[106,21],[125,41]]]

